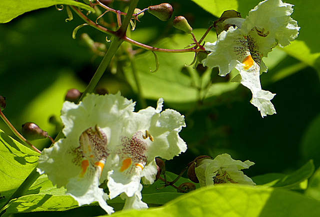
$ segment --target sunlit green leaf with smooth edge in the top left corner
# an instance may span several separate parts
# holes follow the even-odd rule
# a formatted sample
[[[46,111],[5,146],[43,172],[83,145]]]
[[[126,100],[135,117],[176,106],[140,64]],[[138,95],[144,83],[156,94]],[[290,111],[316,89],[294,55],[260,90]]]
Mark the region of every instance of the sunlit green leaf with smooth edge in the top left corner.
[[[0,23],[8,22],[22,13],[56,4],[74,5],[95,12],[89,5],[75,0],[1,0]]]

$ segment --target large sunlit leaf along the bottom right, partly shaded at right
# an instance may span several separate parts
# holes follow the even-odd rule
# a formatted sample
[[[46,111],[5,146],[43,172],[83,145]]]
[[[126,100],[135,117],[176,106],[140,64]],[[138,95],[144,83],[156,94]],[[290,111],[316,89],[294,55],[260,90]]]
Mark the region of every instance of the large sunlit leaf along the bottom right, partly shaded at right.
[[[301,217],[318,216],[320,202],[284,189],[219,185],[200,188],[158,208],[125,211],[114,217]],[[106,216],[105,216],[106,217]]]

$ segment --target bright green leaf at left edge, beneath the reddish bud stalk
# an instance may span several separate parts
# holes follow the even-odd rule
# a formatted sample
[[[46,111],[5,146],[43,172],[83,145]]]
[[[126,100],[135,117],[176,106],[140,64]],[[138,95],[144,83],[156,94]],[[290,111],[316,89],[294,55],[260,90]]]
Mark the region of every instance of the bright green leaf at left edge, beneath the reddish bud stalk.
[[[0,208],[36,166],[38,156],[0,130]]]

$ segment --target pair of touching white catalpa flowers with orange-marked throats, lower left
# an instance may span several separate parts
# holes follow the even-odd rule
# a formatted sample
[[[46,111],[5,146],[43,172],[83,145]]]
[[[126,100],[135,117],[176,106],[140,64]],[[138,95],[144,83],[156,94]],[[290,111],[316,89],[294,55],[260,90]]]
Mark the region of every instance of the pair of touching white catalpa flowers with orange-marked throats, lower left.
[[[124,208],[141,209],[142,185],[152,184],[157,173],[155,157],[172,159],[186,150],[178,133],[184,116],[170,109],[148,107],[133,112],[134,103],[116,95],[88,94],[78,105],[64,102],[61,120],[64,139],[44,149],[38,172],[79,204],[98,202],[108,214],[106,199],[120,196]],[[108,195],[99,185],[106,180]]]

